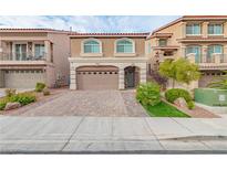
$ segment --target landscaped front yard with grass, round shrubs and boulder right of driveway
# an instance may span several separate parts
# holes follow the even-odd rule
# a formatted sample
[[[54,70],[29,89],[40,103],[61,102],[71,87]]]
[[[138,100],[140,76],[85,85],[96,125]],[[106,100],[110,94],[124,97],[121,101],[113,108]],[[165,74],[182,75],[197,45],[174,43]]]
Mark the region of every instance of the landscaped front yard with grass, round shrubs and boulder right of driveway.
[[[219,117],[196,106],[186,89],[171,88],[161,94],[159,85],[155,82],[141,84],[136,89],[136,99],[151,117]]]

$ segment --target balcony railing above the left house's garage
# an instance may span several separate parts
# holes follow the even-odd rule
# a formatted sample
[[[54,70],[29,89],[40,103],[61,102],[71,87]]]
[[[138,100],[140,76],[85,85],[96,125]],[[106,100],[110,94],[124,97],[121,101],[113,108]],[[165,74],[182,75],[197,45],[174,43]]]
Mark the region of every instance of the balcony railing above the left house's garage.
[[[47,53],[0,53],[0,61],[45,61]]]

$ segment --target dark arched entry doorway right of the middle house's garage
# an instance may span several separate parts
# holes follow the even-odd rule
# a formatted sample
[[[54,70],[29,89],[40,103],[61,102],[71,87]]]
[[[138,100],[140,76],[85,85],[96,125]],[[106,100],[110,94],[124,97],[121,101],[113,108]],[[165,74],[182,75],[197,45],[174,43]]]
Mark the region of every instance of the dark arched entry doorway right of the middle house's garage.
[[[140,83],[140,68],[127,66],[124,68],[125,88],[135,88]]]

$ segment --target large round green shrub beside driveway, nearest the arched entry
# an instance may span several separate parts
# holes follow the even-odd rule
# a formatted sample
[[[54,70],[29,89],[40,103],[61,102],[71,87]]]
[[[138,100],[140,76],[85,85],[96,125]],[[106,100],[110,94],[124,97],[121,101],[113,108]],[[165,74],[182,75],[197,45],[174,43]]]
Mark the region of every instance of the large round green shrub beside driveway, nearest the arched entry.
[[[154,82],[140,84],[136,88],[136,99],[144,106],[155,106],[161,103],[159,85]]]

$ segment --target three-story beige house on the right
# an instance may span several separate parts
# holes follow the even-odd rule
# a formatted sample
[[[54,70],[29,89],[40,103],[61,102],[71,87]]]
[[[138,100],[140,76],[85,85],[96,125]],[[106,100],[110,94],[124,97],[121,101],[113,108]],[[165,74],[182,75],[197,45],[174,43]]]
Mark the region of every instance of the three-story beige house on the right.
[[[227,70],[227,15],[185,15],[155,31],[151,43],[152,68],[165,59],[188,57],[199,65],[200,79],[192,87],[206,87]]]

